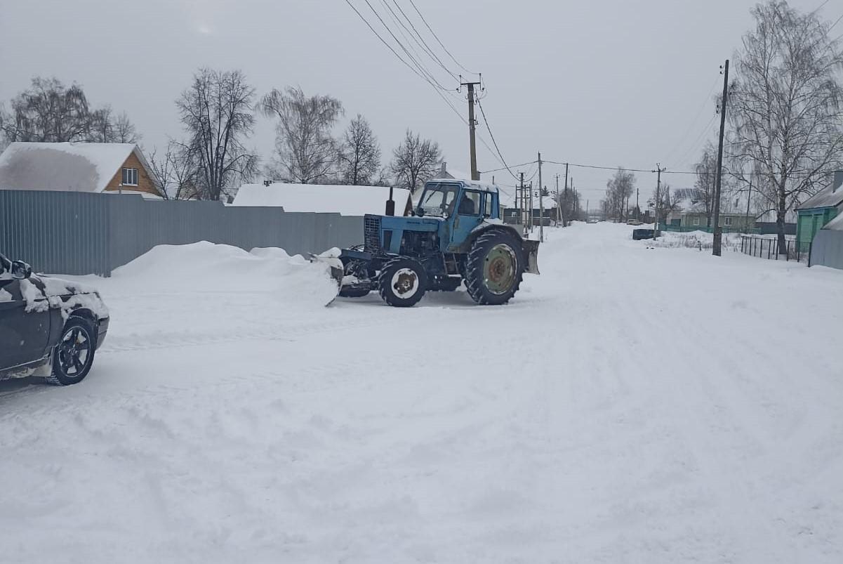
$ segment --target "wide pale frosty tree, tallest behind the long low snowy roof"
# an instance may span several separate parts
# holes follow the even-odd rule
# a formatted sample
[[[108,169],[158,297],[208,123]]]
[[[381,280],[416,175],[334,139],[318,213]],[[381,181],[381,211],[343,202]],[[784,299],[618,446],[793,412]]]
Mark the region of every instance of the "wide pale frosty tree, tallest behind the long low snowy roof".
[[[282,178],[301,184],[325,181],[336,167],[338,144],[331,129],[342,115],[340,100],[306,96],[301,88],[272,89],[260,111],[277,117],[276,158]]]

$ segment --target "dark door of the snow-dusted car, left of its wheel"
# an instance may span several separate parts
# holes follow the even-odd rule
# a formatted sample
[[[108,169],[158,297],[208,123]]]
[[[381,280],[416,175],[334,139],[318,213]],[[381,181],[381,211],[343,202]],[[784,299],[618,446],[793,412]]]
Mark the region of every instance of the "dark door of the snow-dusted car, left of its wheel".
[[[50,309],[44,293],[29,280],[0,273],[0,369],[39,360],[49,338]]]

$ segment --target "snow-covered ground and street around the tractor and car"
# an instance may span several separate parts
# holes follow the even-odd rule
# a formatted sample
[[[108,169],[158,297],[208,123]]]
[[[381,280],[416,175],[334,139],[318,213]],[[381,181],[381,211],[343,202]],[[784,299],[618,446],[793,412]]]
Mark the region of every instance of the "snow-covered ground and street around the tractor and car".
[[[0,561],[843,561],[843,271],[548,231],[498,308],[211,244],[83,278],[88,379],[0,386]]]

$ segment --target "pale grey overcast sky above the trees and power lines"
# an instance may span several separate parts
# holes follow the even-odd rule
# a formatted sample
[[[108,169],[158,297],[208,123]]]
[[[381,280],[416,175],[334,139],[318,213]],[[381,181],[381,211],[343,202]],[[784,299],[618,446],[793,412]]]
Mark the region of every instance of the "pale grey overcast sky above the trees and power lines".
[[[415,17],[409,0],[396,1]],[[381,0],[369,2],[387,13]],[[379,25],[365,0],[352,3]],[[791,4],[809,11],[821,3]],[[752,26],[753,5],[416,0],[448,51],[483,73],[482,105],[509,164],[534,160],[541,151],[556,161],[642,169],[659,162],[672,170],[690,169],[703,142],[715,138],[711,96],[722,85],[719,66]],[[834,20],[843,5],[830,2],[819,13]],[[437,46],[423,26],[420,31]],[[258,94],[299,85],[308,94],[333,95],[346,109],[337,132],[359,112],[384,156],[410,127],[437,140],[454,168],[469,169],[467,127],[345,0],[0,0],[0,38],[0,100],[7,106],[32,77],[75,81],[92,104],[126,110],[148,153],[168,136],[181,136],[174,100],[196,68],[207,66],[242,69]],[[462,72],[439,55],[454,73]],[[426,63],[441,83],[456,87],[444,70]],[[467,112],[463,99],[451,99]],[[481,125],[491,145],[484,130]],[[260,118],[251,143],[265,158],[273,138],[271,121]],[[501,166],[482,143],[478,165]],[[552,187],[562,169],[548,165],[544,172]],[[595,204],[610,172],[573,168],[570,174]],[[494,175],[512,184],[506,171]],[[637,177],[644,198],[655,175]],[[690,179],[666,178],[675,187]]]

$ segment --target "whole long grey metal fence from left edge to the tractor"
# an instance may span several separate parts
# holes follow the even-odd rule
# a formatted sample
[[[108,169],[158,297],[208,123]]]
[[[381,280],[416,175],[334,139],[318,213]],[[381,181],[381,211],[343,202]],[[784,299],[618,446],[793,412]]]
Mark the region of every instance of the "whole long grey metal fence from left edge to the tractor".
[[[0,251],[35,271],[110,276],[155,245],[197,241],[306,255],[362,244],[362,218],[129,194],[0,190]]]

